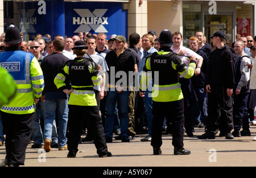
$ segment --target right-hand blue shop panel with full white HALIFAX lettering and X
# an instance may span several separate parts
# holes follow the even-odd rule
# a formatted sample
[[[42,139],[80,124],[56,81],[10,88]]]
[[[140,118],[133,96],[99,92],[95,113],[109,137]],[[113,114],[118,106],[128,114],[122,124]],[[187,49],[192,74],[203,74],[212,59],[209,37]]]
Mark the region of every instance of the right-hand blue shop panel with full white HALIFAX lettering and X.
[[[65,2],[65,34],[81,32],[127,36],[127,10],[115,2]]]

